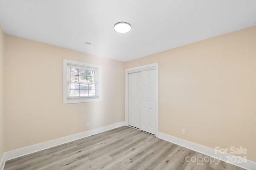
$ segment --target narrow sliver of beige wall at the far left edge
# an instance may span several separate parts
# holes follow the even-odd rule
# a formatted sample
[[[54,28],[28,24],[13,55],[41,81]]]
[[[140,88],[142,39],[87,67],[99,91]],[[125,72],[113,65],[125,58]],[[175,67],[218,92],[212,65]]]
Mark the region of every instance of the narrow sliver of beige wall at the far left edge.
[[[4,32],[0,25],[0,161],[4,153],[4,44]]]

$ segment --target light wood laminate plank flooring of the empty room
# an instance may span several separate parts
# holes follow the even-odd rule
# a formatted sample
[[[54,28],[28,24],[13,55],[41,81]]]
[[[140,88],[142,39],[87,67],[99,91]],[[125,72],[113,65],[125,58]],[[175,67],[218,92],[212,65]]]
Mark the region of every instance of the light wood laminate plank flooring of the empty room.
[[[4,170],[243,170],[200,157],[205,155],[123,126],[8,160]]]

